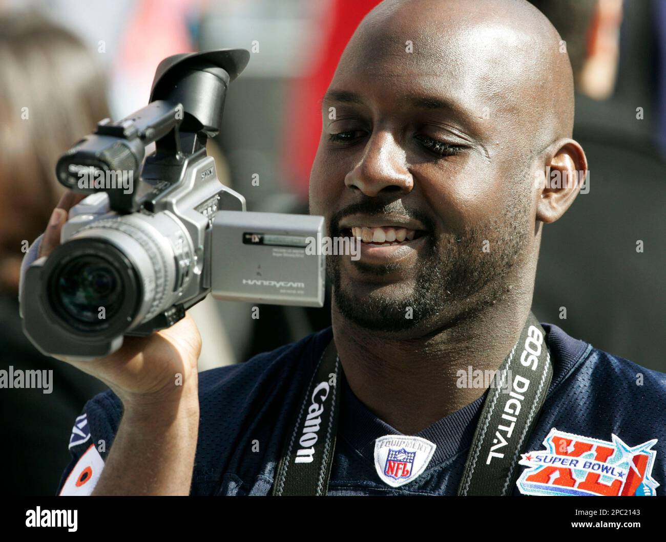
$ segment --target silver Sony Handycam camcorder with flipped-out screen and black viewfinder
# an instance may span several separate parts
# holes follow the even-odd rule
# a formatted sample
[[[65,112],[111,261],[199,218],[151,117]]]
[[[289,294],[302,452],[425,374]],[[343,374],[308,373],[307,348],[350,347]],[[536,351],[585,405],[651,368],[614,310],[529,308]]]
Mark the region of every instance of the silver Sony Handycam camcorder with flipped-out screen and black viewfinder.
[[[244,49],[168,57],[148,106],[103,120],[61,157],[59,182],[90,195],[21,285],[23,330],[41,352],[106,356],[125,335],[176,323],[208,293],[322,307],[324,255],[312,243],[323,217],[246,211],[206,156],[228,84],[248,59]]]

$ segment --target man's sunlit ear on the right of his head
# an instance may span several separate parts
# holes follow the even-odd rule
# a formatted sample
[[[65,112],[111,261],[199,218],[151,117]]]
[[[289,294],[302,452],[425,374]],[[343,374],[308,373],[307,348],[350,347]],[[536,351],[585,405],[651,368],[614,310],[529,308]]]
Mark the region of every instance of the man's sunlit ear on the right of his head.
[[[574,140],[557,142],[555,153],[545,164],[545,179],[538,187],[536,219],[551,223],[573,203],[587,178],[587,158]]]

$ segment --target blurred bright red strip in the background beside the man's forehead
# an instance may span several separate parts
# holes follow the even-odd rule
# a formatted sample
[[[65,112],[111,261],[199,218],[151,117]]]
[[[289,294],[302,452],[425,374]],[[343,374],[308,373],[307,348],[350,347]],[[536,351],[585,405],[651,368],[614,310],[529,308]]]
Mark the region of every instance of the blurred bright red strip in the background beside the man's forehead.
[[[282,170],[290,180],[287,188],[307,200],[312,161],[322,130],[320,100],[333,78],[344,47],[352,34],[380,0],[334,0],[325,20],[330,27],[312,72],[294,82],[285,110]]]

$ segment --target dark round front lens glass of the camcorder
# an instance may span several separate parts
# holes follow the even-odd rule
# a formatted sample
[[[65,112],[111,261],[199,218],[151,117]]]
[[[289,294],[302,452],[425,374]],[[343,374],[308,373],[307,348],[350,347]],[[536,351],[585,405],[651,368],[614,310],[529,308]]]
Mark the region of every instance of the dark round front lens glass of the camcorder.
[[[77,329],[105,329],[123,304],[123,281],[115,266],[99,255],[79,255],[53,277],[54,309]]]

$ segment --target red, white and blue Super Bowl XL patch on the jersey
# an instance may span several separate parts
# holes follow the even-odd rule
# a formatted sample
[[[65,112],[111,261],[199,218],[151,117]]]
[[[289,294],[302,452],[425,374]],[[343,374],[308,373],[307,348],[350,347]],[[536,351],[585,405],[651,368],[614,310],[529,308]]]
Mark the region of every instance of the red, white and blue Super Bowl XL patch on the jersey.
[[[652,477],[657,439],[628,446],[618,436],[611,442],[550,430],[546,450],[522,454],[529,467],[516,482],[523,495],[656,495]]]

